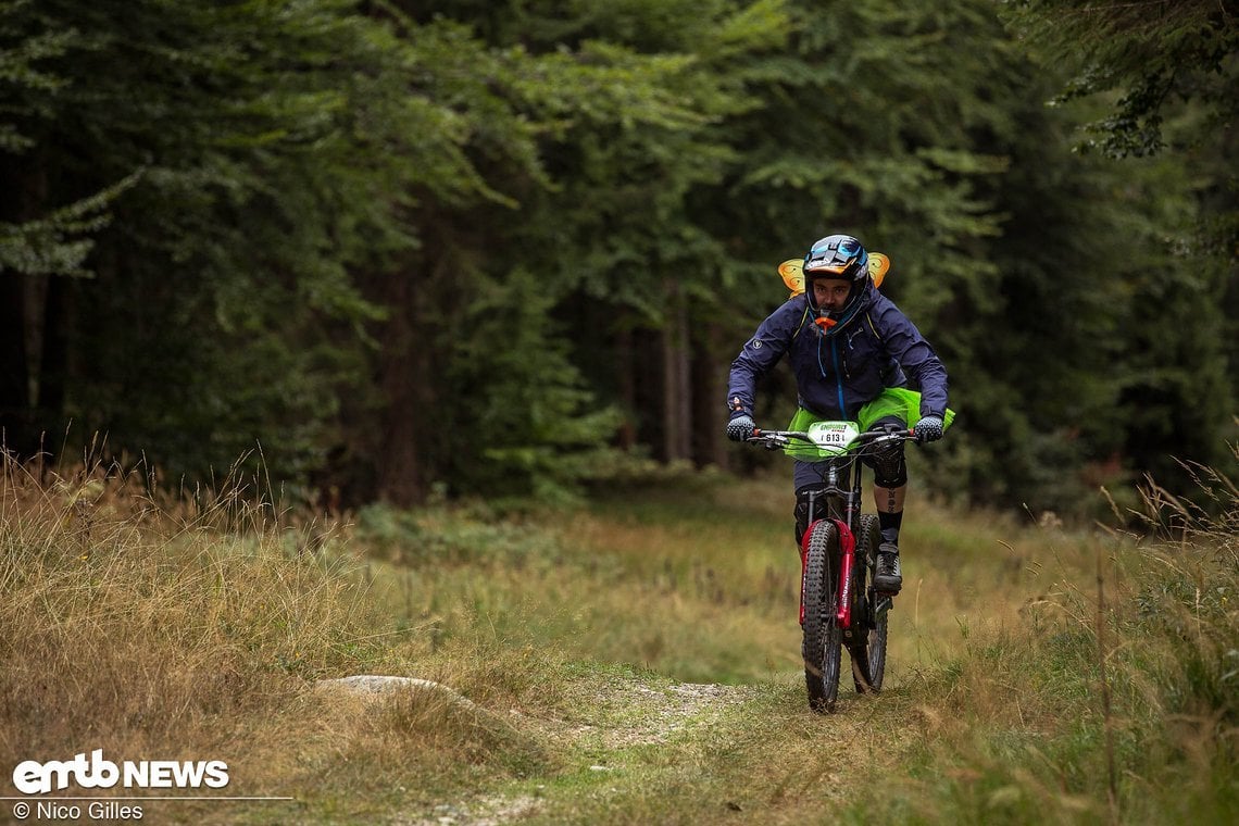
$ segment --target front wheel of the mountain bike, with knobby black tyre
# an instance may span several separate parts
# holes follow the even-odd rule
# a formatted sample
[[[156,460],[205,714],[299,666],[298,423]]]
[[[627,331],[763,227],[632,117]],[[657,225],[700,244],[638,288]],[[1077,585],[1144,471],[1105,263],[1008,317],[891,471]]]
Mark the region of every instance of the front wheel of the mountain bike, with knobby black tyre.
[[[809,707],[820,713],[835,710],[839,697],[839,664],[843,638],[835,619],[835,575],[839,560],[839,531],[834,523],[820,520],[809,528],[804,563],[804,684]]]

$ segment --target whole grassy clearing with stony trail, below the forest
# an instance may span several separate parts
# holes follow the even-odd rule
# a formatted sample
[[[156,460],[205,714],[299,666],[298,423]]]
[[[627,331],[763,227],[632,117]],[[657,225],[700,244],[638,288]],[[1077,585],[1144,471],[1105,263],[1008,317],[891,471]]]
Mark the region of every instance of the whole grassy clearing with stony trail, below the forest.
[[[1239,821],[1224,478],[1209,519],[1151,493],[1139,540],[913,502],[886,687],[833,716],[805,702],[782,478],[341,524],[0,485],[6,796],[22,760],[102,748],[273,798],[138,801],[155,824]],[[439,687],[321,682],[361,674]]]

